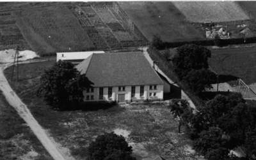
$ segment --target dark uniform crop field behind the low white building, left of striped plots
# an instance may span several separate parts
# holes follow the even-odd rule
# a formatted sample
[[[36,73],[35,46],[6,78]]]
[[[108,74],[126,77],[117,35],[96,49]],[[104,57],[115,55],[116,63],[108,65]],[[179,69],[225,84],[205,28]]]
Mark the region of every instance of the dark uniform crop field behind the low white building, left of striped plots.
[[[17,11],[15,15],[22,34],[39,54],[95,48],[79,21],[65,6]]]

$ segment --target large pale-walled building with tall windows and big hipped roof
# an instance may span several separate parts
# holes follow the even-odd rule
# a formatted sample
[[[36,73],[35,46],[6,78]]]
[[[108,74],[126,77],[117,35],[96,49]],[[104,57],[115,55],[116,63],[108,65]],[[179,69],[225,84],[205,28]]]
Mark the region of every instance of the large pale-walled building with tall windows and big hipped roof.
[[[76,68],[94,84],[86,102],[163,100],[164,82],[141,52],[92,54]]]

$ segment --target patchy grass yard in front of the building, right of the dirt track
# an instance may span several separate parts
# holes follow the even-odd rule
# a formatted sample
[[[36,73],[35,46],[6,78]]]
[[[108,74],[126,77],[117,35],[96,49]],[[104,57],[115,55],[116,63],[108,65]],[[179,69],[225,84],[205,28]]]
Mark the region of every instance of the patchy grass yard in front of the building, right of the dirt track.
[[[191,142],[184,134],[177,134],[176,121],[161,103],[113,106],[104,110],[86,110],[86,106],[84,110],[52,110],[35,95],[40,75],[52,64],[53,61],[20,65],[19,82],[10,82],[12,68],[7,68],[4,74],[39,124],[49,131],[56,142],[70,149],[76,159],[86,157],[85,149],[97,135],[115,129],[124,129],[129,133],[127,142],[132,145],[138,160],[154,159],[156,155],[184,155],[184,148]]]

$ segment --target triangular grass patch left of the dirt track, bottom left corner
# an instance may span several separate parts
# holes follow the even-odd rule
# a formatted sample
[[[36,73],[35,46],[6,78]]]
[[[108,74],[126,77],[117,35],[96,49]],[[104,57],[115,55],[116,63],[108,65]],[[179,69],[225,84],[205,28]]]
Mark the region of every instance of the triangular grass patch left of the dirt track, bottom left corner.
[[[52,160],[26,122],[0,91],[0,159]]]

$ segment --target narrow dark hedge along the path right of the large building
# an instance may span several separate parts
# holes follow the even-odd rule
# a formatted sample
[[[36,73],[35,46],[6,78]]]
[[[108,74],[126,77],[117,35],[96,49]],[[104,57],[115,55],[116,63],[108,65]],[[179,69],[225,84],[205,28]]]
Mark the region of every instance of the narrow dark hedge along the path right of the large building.
[[[163,54],[159,52],[155,47],[150,46],[147,50],[148,54],[150,55],[151,59],[153,61],[158,61],[159,64],[158,67],[163,71],[163,73],[168,76],[170,79],[172,79],[174,82],[178,82],[177,84],[179,87],[189,96],[189,98],[193,101],[195,106],[200,106],[203,105],[204,102],[202,99],[198,98],[193,94],[193,91],[189,89],[188,85],[179,82],[177,76],[175,75],[173,69],[172,69],[172,64],[171,62],[166,61],[165,57]]]

